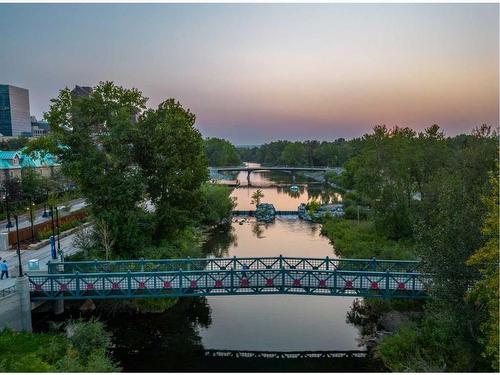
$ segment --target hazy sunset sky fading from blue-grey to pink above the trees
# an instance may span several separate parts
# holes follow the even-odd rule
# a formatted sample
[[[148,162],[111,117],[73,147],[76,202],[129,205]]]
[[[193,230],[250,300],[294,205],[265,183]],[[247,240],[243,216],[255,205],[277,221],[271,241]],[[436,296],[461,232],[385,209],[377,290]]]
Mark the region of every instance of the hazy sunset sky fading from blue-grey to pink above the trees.
[[[0,84],[112,80],[237,144],[499,123],[498,4],[0,4]]]

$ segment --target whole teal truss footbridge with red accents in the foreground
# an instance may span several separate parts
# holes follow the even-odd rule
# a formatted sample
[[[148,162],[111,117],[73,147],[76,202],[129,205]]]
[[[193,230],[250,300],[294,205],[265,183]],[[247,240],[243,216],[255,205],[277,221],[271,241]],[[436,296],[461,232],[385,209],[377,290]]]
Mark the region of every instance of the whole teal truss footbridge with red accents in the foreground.
[[[322,295],[425,298],[418,261],[332,258],[200,258],[50,262],[29,276],[31,300]]]

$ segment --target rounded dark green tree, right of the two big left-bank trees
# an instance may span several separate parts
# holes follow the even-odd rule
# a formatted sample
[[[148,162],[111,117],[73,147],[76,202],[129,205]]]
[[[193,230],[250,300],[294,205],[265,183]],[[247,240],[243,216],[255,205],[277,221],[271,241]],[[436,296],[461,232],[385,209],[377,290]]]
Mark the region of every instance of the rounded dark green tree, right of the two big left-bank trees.
[[[155,239],[200,218],[199,188],[208,179],[208,164],[195,115],[174,99],[149,109],[135,125],[133,155],[155,207]]]

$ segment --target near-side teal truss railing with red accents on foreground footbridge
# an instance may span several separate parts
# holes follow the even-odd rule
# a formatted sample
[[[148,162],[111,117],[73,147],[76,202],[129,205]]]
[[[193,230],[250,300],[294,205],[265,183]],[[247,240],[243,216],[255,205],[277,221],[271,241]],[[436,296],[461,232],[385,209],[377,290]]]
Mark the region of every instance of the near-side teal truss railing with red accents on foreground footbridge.
[[[29,277],[33,300],[166,298],[245,294],[313,294],[424,298],[421,273],[312,269],[46,274]]]

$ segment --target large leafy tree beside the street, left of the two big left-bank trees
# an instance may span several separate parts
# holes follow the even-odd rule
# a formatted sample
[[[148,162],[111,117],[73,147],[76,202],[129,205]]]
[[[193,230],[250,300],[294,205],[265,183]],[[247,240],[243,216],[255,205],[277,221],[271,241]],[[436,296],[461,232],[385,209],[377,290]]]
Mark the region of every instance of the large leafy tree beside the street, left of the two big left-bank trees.
[[[55,154],[91,213],[110,227],[116,248],[133,253],[148,238],[139,207],[144,178],[131,152],[136,128],[131,118],[145,108],[146,99],[135,89],[102,82],[89,96],[73,97],[64,89],[51,102],[45,114],[51,133],[33,142],[28,152]]]

